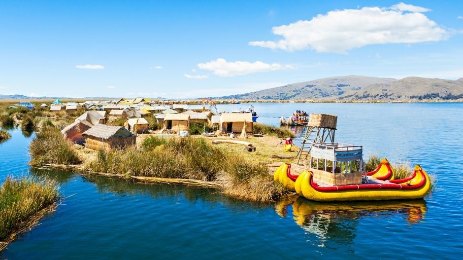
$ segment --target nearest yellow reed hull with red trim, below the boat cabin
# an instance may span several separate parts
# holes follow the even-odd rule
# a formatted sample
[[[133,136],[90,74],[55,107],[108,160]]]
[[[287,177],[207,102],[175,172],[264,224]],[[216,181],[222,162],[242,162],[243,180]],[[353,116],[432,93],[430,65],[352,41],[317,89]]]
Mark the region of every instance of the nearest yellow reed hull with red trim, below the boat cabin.
[[[390,180],[383,184],[320,187],[312,177],[311,172],[304,171],[296,179],[294,190],[300,196],[313,201],[422,199],[431,188],[429,176],[419,165],[416,165],[412,177],[402,180]]]

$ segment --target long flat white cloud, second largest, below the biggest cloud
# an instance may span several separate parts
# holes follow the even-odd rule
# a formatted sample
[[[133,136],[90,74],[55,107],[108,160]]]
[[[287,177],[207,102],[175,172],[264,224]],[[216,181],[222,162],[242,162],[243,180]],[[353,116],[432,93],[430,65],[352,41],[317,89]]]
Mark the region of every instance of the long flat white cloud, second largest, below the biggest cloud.
[[[231,77],[237,75],[246,75],[255,72],[266,72],[281,70],[287,68],[293,68],[291,65],[281,65],[278,63],[263,63],[261,61],[249,62],[249,61],[235,61],[228,62],[223,58],[211,60],[206,63],[199,63],[197,66],[201,69],[207,69],[214,71],[214,75],[220,77]]]

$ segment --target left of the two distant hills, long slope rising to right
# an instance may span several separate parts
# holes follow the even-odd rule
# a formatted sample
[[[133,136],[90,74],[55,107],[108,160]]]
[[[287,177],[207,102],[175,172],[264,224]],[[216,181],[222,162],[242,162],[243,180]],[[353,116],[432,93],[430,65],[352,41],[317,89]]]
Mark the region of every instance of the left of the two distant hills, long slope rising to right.
[[[313,81],[293,83],[281,87],[265,89],[220,98],[233,99],[323,99],[340,96],[350,90],[359,90],[372,84],[387,84],[395,79],[365,76],[341,76]]]

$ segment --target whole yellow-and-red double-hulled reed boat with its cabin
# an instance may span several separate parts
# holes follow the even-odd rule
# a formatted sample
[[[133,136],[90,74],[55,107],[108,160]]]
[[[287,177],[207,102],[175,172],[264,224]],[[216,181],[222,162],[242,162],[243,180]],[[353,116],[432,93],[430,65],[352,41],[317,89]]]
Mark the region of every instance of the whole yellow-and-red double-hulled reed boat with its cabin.
[[[412,176],[394,179],[392,167],[383,159],[377,169],[362,174],[361,155],[361,146],[314,143],[308,171],[291,174],[291,165],[283,164],[275,171],[274,180],[314,201],[420,199],[431,188],[429,176],[419,165],[415,166]]]

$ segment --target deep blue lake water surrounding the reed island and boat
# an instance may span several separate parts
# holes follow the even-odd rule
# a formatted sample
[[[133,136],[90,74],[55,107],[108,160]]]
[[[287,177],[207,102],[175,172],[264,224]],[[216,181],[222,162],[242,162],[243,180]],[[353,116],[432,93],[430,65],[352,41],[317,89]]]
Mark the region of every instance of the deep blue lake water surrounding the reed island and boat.
[[[295,109],[338,115],[336,141],[438,178],[424,200],[260,204],[214,190],[27,166],[20,130],[0,144],[6,175],[51,175],[63,201],[0,259],[454,259],[463,251],[463,104],[253,104],[277,125]],[[218,105],[232,110],[249,104]],[[300,137],[302,129],[296,129]]]

